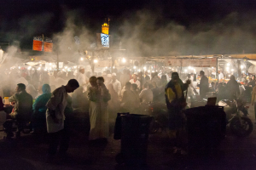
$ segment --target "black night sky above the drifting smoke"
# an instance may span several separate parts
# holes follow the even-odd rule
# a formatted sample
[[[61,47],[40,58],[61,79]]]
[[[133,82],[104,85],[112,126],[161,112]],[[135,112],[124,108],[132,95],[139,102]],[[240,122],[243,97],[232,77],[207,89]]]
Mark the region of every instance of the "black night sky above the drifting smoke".
[[[154,30],[175,22],[193,32],[197,24],[215,25],[232,13],[238,18],[232,24],[239,26],[240,21],[254,15],[255,9],[256,0],[2,0],[0,41],[19,41],[21,48],[31,48],[33,36],[44,33],[52,37],[63,31],[68,13],[75,14],[75,25],[85,25],[93,34],[101,31],[101,25],[109,17],[110,34],[122,37],[120,26],[124,20],[132,20],[138,11],[147,10],[149,14],[157,15]],[[36,29],[32,30],[33,25]]]

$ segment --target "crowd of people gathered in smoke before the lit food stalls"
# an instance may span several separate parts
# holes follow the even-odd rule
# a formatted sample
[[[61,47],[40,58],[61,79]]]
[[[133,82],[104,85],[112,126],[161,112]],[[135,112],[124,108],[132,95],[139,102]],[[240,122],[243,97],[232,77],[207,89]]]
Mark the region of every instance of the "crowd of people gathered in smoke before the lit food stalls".
[[[15,136],[20,137],[27,120],[32,120],[32,133],[44,133],[46,130],[49,133],[49,156],[55,156],[60,141],[60,152],[67,152],[68,117],[73,109],[89,113],[90,141],[107,142],[109,124],[115,121],[118,112],[146,115],[150,102],[166,104],[169,132],[177,134],[183,127],[183,116],[179,113],[187,105],[186,97],[193,101],[198,94],[197,87],[200,88],[201,99],[206,98],[208,92],[216,92],[218,99],[235,99],[241,94],[249,94],[247,91],[251,90],[254,104],[255,77],[244,86],[236,82],[234,76],[226,84],[209,84],[204,71],[200,71],[199,76],[201,81],[198,84],[194,74],[188,74],[182,81],[177,72],[159,77],[157,72],[151,75],[147,71],[144,74],[134,72],[131,75],[129,70],[120,73],[115,69],[112,73],[103,71],[99,75],[90,75],[80,67],[75,75],[61,71],[53,74],[35,71],[31,75],[24,71],[19,75],[11,73],[3,78],[4,83],[0,87],[0,96],[9,97],[14,105],[4,127],[8,137],[13,137],[11,127],[16,120],[18,129]],[[0,104],[3,105],[2,102]],[[1,105],[0,110],[3,110]]]

